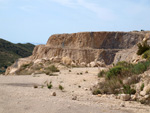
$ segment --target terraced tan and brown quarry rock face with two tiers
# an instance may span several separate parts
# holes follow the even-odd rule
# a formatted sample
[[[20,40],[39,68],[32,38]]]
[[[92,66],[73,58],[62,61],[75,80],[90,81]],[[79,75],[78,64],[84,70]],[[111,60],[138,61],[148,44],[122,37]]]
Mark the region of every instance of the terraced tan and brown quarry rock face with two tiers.
[[[49,37],[46,45],[36,46],[29,60],[35,61],[37,59],[52,59],[56,57],[57,59],[62,59],[67,57],[74,64],[85,63],[88,65],[90,62],[103,62],[109,65],[133,56],[133,53],[136,53],[136,51],[132,50],[132,48],[142,41],[145,35],[146,33],[144,32],[56,34]],[[130,51],[133,53],[128,54]],[[9,72],[7,71],[7,74]]]

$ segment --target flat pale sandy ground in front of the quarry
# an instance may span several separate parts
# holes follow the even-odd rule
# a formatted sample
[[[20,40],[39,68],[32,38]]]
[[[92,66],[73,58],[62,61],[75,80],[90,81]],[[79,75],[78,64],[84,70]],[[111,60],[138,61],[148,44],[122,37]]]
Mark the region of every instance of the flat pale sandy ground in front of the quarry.
[[[92,95],[90,87],[97,83],[97,68],[70,70],[61,70],[58,76],[0,76],[0,113],[150,113],[150,106]],[[50,81],[52,89],[45,85]]]

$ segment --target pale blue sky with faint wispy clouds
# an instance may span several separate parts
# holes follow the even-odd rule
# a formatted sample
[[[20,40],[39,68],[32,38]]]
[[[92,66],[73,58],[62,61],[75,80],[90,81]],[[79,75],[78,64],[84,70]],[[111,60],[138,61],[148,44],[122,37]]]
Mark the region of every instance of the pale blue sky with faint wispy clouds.
[[[0,0],[0,38],[45,44],[52,34],[150,30],[150,0]]]

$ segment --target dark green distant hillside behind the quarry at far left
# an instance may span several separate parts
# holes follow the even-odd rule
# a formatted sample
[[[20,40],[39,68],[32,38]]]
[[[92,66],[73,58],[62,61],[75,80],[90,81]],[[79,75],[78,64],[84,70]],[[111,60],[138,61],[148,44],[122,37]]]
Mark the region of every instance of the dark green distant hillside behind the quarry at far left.
[[[30,43],[14,44],[0,38],[0,73],[4,72],[18,58],[30,56],[34,47],[35,45]]]

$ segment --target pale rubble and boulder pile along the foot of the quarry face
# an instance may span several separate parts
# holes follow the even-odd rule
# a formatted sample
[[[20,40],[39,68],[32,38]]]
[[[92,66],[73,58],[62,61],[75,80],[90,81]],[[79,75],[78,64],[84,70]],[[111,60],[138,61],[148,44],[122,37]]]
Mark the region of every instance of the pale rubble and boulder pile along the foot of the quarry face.
[[[58,69],[65,69],[67,67],[105,67],[105,63],[99,61],[93,61],[90,63],[85,62],[75,62],[69,57],[51,57],[51,58],[43,58],[36,60],[29,59],[19,59],[18,62],[10,66],[5,75],[35,75],[45,73],[47,75],[51,75],[49,72],[49,68],[51,66],[55,66]]]

